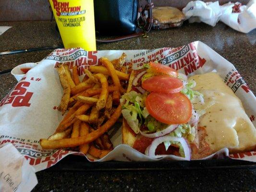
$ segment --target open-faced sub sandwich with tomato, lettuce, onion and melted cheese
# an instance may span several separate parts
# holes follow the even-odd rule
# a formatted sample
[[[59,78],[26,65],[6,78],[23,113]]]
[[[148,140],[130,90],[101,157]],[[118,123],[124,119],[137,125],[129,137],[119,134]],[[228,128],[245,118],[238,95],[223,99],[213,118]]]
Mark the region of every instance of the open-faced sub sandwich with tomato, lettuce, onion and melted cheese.
[[[256,128],[216,72],[187,78],[150,62],[131,73],[121,103],[123,144],[150,157],[201,159],[256,147]]]

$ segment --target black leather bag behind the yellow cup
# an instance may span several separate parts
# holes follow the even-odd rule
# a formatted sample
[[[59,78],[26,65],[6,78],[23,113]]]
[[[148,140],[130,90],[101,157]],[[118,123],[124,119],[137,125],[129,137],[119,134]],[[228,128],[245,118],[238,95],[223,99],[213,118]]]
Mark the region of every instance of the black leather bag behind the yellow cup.
[[[153,3],[147,0],[142,9],[140,0],[94,0],[96,33],[99,35],[134,34],[136,28],[148,32],[153,23]],[[145,12],[147,11],[147,20]]]

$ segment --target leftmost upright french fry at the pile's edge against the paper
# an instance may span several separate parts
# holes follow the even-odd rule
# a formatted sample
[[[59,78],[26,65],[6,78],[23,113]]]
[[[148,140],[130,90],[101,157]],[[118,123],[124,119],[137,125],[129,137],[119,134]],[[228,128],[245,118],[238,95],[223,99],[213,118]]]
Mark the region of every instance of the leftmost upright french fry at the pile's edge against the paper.
[[[58,107],[58,110],[60,110],[61,114],[64,115],[68,108],[71,88],[68,82],[68,77],[66,75],[65,68],[62,64],[57,67],[57,72],[59,73],[61,86],[63,88],[63,96],[61,97],[61,103]]]

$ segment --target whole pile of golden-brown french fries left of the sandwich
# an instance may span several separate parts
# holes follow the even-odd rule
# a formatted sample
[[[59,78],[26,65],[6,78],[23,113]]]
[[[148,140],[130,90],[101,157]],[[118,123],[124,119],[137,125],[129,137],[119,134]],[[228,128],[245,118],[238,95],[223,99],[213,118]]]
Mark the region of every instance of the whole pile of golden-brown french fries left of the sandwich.
[[[96,158],[113,149],[107,131],[121,116],[120,97],[127,89],[132,66],[122,66],[125,57],[123,53],[112,61],[100,58],[102,65],[85,69],[82,82],[77,66],[73,66],[72,73],[67,65],[57,66],[63,88],[58,109],[62,115],[68,112],[48,139],[40,139],[43,149],[76,147],[72,150]]]

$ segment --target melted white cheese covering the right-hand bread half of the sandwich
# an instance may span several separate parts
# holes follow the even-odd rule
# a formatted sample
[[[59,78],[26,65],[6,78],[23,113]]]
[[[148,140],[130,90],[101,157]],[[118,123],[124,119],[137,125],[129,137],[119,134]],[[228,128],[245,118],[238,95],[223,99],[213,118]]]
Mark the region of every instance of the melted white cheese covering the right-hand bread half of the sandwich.
[[[219,75],[210,72],[191,78],[196,82],[194,89],[204,95],[204,104],[193,105],[197,110],[206,111],[199,119],[199,126],[205,127],[206,142],[213,152],[224,147],[231,151],[244,151],[255,146],[256,129],[253,123],[246,115],[240,99]]]

